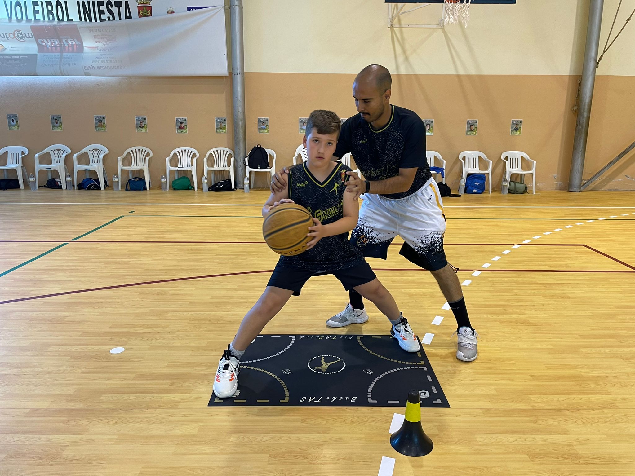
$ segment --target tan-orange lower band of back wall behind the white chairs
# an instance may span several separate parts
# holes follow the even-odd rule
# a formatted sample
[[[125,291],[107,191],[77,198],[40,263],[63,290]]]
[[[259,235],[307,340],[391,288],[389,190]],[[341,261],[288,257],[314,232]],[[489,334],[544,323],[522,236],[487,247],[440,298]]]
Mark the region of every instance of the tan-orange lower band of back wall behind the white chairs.
[[[302,136],[298,117],[313,109],[333,109],[341,117],[355,113],[352,74],[256,73],[246,82],[247,145],[276,150],[276,166],[291,163]],[[572,153],[578,76],[503,75],[395,75],[392,102],[435,120],[428,149],[448,161],[448,183],[457,188],[458,153],[482,150],[494,162],[494,188],[500,186],[504,150],[524,150],[538,162],[538,190],[566,188]],[[103,143],[109,176],[116,158],[132,145],[154,151],[150,175],[158,185],[165,157],[175,147],[188,145],[201,155],[211,147],[232,147],[230,77],[183,78],[48,78],[0,79],[0,146],[25,145],[33,155],[53,143],[65,143],[73,152],[90,143]],[[591,117],[584,177],[589,178],[620,150],[635,140],[634,76],[598,76]],[[7,113],[18,113],[20,130],[8,131]],[[62,114],[62,132],[50,128],[50,114]],[[95,132],[93,115],[107,116],[107,132]],[[137,133],[134,116],[148,117],[149,131]],[[174,118],[187,116],[189,133],[175,133]],[[215,133],[214,117],[227,116],[230,131]],[[269,117],[269,135],[257,133],[258,116]],[[478,136],[465,136],[465,120],[479,119]],[[511,119],[523,119],[523,135],[509,135]],[[635,189],[631,154],[592,188]],[[72,166],[72,157],[67,161]],[[199,160],[202,171],[202,157]],[[632,177],[632,178],[629,178]],[[200,175],[199,175],[200,180]],[[266,185],[260,176],[258,186]]]

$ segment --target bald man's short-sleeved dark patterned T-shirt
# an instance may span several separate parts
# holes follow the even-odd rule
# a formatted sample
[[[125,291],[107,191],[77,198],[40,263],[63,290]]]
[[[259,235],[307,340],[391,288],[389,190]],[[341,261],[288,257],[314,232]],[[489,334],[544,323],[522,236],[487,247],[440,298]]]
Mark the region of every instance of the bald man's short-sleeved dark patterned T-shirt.
[[[425,126],[417,113],[399,106],[392,107],[392,116],[384,128],[375,131],[359,115],[342,124],[335,157],[351,152],[366,180],[384,180],[399,175],[399,169],[417,167],[412,186],[399,194],[382,195],[400,199],[415,193],[431,177],[425,158]],[[373,184],[370,185],[373,190]]]

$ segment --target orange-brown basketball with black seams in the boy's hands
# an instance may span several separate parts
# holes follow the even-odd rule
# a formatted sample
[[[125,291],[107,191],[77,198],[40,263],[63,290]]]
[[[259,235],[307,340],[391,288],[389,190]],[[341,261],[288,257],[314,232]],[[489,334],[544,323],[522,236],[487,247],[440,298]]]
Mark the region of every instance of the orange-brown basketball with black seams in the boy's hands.
[[[283,203],[269,212],[262,223],[262,235],[273,251],[283,256],[304,253],[311,237],[307,236],[313,225],[311,213],[297,203]]]

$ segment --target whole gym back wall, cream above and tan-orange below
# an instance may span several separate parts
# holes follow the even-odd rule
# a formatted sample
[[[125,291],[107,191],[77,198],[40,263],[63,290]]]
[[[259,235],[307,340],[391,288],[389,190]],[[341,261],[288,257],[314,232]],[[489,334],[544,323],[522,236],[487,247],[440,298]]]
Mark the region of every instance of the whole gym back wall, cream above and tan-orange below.
[[[621,27],[635,0],[622,5]],[[603,41],[618,0],[605,1]],[[408,21],[438,17],[434,7]],[[429,15],[426,19],[425,15]],[[430,17],[431,15],[431,17]],[[247,145],[276,150],[277,166],[291,163],[302,140],[298,117],[313,109],[355,113],[354,75],[368,63],[383,63],[394,75],[393,102],[435,122],[429,149],[448,161],[456,188],[458,152],[483,150],[502,175],[500,153],[525,150],[538,161],[538,188],[566,188],[576,116],[577,79],[582,69],[587,0],[519,1],[516,6],[472,6],[467,29],[389,29],[381,1],[275,0],[244,2]],[[624,18],[622,18],[624,17]],[[635,136],[635,27],[629,25],[598,69],[584,177],[624,149]],[[106,166],[132,145],[154,150],[151,178],[158,185],[165,157],[190,145],[201,154],[232,147],[232,134],[215,133],[214,117],[232,125],[230,77],[172,78],[0,78],[0,120],[20,115],[20,131],[0,123],[0,145],[25,145],[35,152],[65,143],[76,152],[98,142],[110,149]],[[50,114],[64,116],[65,131],[50,129]],[[107,116],[108,131],[94,130],[93,115]],[[137,133],[135,115],[148,116],[149,132]],[[175,133],[174,118],[187,116],[189,133]],[[270,118],[269,135],[258,135],[257,117]],[[465,136],[465,120],[479,119],[479,135]],[[511,119],[523,119],[523,135],[509,135]],[[231,128],[230,128],[231,129]],[[631,164],[629,164],[629,161]],[[594,188],[635,189],[631,158]],[[68,162],[69,166],[71,161]],[[203,168],[199,161],[199,171]],[[265,185],[260,178],[258,185]]]

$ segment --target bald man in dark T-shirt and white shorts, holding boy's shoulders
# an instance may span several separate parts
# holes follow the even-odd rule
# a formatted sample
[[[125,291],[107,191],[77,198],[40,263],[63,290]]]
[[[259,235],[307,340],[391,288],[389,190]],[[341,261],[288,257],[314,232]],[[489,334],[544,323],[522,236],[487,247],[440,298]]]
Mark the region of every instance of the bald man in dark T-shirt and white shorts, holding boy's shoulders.
[[[351,242],[364,256],[386,259],[392,239],[405,243],[399,251],[406,259],[429,270],[457,319],[457,359],[471,362],[478,356],[463,292],[443,251],[445,215],[441,194],[425,157],[424,122],[411,110],[390,104],[392,78],[380,65],[369,65],[353,83],[359,114],[342,125],[335,150],[341,158],[349,152],[366,180],[356,174],[347,192],[364,194]],[[286,169],[276,174],[272,189],[286,187]],[[328,319],[330,327],[368,321],[361,296],[349,291],[349,305]]]

